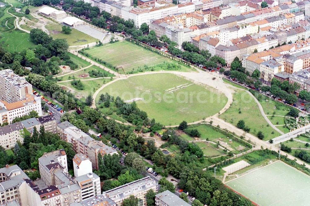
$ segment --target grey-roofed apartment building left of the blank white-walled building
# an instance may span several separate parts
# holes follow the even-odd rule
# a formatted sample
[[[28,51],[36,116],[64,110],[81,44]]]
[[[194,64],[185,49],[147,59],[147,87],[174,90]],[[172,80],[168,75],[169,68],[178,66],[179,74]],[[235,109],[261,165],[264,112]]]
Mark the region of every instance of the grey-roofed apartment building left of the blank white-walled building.
[[[68,172],[67,155],[64,149],[44,153],[38,161],[41,179],[47,186],[56,185],[56,172]]]

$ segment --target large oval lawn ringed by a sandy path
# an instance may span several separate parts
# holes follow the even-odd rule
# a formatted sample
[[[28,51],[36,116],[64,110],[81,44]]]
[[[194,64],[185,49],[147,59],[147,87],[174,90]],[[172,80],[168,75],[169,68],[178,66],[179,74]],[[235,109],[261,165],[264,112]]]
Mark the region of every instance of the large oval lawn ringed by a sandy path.
[[[155,118],[163,125],[201,120],[219,112],[227,102],[227,98],[218,94],[217,90],[195,85],[174,74],[149,74],[118,80],[102,89],[96,96],[96,102],[99,102],[100,94],[106,92],[125,101],[143,98],[136,101],[137,106],[147,112],[149,118]]]

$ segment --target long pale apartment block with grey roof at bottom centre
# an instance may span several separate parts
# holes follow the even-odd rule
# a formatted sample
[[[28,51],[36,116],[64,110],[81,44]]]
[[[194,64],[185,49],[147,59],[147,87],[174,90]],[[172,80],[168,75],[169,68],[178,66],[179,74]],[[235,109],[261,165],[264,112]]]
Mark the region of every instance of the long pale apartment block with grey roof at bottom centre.
[[[148,190],[154,190],[155,193],[158,191],[158,182],[150,176],[105,191],[103,194],[107,195],[117,205],[121,205],[124,199],[129,198],[130,195],[139,199],[139,205],[146,205],[145,194]]]

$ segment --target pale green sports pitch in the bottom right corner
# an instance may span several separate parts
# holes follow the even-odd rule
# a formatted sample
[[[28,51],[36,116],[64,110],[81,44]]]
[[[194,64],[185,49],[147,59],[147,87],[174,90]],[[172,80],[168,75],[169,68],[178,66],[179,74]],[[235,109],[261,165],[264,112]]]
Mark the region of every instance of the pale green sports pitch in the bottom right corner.
[[[310,176],[277,161],[225,183],[260,206],[306,206]]]

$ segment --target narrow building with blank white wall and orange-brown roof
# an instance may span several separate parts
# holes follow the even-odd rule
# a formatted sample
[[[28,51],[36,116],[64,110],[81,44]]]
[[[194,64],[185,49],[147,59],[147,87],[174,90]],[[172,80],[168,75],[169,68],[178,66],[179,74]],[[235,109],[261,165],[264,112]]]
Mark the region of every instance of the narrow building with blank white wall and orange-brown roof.
[[[91,161],[84,154],[76,154],[73,158],[74,176],[82,176],[93,172]]]

